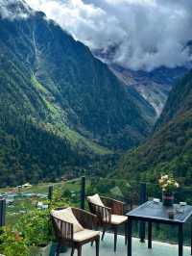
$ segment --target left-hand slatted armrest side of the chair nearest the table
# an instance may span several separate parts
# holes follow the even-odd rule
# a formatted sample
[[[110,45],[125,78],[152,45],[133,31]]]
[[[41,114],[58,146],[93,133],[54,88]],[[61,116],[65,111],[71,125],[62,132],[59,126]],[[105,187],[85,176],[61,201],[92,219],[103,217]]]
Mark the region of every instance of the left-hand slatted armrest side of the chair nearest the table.
[[[88,202],[90,212],[97,216],[99,223],[111,222],[111,209],[106,206],[101,206]]]

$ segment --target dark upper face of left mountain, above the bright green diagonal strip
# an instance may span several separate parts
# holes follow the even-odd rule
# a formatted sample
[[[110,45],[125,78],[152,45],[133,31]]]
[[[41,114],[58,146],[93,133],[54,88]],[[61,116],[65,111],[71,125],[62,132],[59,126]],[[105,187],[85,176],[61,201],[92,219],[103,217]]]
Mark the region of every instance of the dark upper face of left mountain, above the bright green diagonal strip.
[[[132,146],[137,137],[148,134],[148,123],[108,66],[42,13],[27,20],[2,20],[1,25],[6,29],[1,34],[3,48],[9,46],[4,52],[11,51],[31,69],[31,76],[47,90],[49,102],[58,105],[72,129],[112,147],[118,146],[119,136],[126,135]]]

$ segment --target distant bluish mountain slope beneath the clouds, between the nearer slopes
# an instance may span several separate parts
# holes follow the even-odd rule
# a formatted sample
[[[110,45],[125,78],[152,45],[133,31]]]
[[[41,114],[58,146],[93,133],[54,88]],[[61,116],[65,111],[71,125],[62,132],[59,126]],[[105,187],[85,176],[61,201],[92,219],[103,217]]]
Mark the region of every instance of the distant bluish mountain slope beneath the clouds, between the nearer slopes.
[[[166,103],[168,94],[176,81],[180,79],[187,71],[189,66],[180,66],[175,68],[159,67],[152,71],[131,70],[119,64],[115,64],[114,56],[116,47],[108,50],[97,50],[93,52],[96,57],[108,64],[110,70],[125,84],[128,88],[132,87],[148,102],[156,112],[154,119],[159,117]],[[190,65],[190,64],[189,64]]]

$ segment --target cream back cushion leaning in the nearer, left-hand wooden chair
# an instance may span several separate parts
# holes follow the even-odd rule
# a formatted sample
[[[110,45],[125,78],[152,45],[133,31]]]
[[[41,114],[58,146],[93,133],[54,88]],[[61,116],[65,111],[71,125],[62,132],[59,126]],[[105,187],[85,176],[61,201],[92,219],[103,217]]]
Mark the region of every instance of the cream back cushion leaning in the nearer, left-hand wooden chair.
[[[74,233],[84,230],[84,227],[74,216],[72,209],[70,207],[62,210],[52,210],[51,215],[55,218],[60,218],[60,220],[73,224]]]

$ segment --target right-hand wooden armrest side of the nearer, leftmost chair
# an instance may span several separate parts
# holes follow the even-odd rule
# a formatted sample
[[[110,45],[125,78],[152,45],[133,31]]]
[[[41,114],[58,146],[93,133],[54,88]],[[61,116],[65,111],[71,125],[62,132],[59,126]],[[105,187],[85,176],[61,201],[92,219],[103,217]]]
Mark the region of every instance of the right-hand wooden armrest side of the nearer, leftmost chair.
[[[79,208],[72,208],[73,214],[86,229],[94,229],[97,226],[97,216]]]

